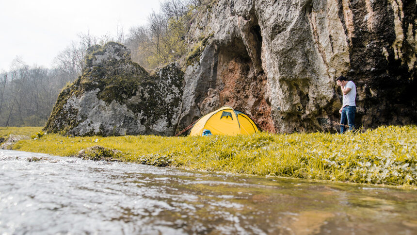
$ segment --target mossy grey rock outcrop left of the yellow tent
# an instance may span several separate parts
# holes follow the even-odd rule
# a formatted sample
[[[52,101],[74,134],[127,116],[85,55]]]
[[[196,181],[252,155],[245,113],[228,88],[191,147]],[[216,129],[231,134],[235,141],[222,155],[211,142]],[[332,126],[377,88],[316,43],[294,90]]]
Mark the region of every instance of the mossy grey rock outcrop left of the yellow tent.
[[[70,135],[173,135],[181,109],[177,63],[150,75],[117,43],[87,51],[82,75],[58,97],[46,127]]]

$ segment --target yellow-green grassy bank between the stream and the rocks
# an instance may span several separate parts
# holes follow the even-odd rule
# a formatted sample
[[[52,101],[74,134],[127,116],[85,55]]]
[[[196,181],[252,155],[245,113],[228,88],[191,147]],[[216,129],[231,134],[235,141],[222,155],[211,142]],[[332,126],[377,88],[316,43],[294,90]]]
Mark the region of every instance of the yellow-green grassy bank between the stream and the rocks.
[[[209,137],[64,137],[46,134],[13,149],[71,156],[91,146],[117,149],[122,161],[195,170],[343,182],[416,185],[417,126],[365,133]]]

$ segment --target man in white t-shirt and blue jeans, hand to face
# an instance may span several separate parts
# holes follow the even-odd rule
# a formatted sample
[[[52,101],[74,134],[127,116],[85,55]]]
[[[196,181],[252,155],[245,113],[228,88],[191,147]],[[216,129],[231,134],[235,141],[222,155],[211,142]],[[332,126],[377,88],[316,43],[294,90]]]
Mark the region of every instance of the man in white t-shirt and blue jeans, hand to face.
[[[347,81],[343,76],[338,77],[336,83],[340,86],[343,93],[343,105],[339,110],[339,113],[341,114],[340,134],[342,134],[346,131],[347,126],[349,126],[349,130],[355,129],[356,86],[352,81]]]

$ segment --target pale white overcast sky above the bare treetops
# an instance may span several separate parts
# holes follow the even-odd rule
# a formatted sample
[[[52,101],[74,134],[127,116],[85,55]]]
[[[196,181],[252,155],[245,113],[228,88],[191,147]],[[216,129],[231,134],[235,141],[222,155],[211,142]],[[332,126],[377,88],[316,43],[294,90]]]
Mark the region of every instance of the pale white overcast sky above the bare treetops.
[[[16,56],[51,67],[78,34],[115,36],[119,27],[126,36],[159,9],[160,0],[0,0],[0,72]]]

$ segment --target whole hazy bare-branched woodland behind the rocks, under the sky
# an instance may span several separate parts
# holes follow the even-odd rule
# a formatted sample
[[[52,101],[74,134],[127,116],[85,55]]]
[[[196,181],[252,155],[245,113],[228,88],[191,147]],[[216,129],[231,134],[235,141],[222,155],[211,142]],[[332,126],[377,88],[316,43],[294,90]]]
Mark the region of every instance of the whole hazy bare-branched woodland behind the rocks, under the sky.
[[[132,60],[151,70],[178,60],[187,53],[185,34],[203,0],[165,0],[160,12],[152,12],[146,25],[133,27],[116,37],[79,35],[54,59],[53,67],[28,66],[19,58],[9,71],[0,73],[0,126],[44,126],[62,88],[83,69],[86,50],[115,41],[127,46]]]

